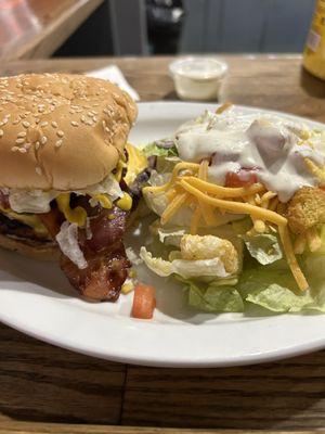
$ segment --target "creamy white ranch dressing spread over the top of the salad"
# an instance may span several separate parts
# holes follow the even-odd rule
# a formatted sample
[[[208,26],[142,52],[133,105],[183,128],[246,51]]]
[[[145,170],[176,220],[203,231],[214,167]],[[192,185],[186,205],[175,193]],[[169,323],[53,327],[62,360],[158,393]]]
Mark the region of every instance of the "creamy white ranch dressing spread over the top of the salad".
[[[302,186],[317,186],[303,158],[324,165],[325,146],[320,135],[303,142],[302,127],[275,115],[240,114],[233,110],[182,125],[176,132],[181,159],[209,158],[209,181],[223,186],[227,173],[253,173],[268,190],[287,202]],[[301,144],[302,143],[302,144]]]

